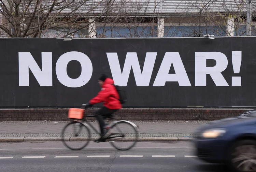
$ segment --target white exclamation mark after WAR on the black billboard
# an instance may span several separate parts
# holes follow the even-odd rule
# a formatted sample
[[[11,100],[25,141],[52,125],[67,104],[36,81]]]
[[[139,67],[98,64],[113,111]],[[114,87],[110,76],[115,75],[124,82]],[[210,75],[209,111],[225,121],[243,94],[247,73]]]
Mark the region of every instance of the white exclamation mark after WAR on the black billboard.
[[[242,51],[232,51],[232,64],[234,73],[240,73],[242,62]],[[242,85],[241,76],[232,76],[232,86]]]

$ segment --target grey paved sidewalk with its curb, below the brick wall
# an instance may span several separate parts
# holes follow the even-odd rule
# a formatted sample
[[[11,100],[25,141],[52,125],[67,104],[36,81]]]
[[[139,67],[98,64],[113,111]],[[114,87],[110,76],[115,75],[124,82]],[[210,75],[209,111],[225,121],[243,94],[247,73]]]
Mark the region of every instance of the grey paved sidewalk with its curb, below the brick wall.
[[[0,142],[60,141],[61,130],[69,121],[3,121]],[[97,121],[90,121],[99,129]],[[108,122],[108,121],[107,121]],[[210,121],[131,121],[139,126],[141,141],[191,140],[196,129]],[[90,130],[95,135],[93,130]],[[96,134],[97,135],[97,134]]]

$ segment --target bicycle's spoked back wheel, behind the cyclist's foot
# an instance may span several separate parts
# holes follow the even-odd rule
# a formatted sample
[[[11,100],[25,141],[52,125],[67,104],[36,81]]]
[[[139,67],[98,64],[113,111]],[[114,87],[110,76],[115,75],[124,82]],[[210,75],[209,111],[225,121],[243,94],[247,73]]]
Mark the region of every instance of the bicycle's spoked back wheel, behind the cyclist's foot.
[[[122,126],[121,126],[122,125]],[[118,128],[120,130],[122,130],[123,128],[123,131],[126,131],[126,128],[123,127],[123,125],[125,125],[127,128],[130,127],[132,128],[133,132],[126,132],[126,133],[115,133],[115,131],[118,131]],[[135,125],[135,124],[134,124]],[[133,124],[129,123],[129,122],[126,122],[126,121],[118,121],[117,123],[113,124],[111,129],[113,130],[113,132],[110,134],[110,136],[108,137],[108,139],[110,139],[110,143],[111,145],[118,149],[118,150],[121,150],[121,151],[126,151],[126,150],[129,150],[131,149],[132,147],[134,147],[134,145],[137,143],[138,141],[138,137],[139,137],[139,134],[138,134],[138,130],[137,130],[137,126],[133,126]],[[123,132],[122,131],[122,132]],[[124,137],[120,138],[119,140],[118,139],[114,139],[113,137],[117,137],[117,135],[125,135]],[[130,136],[130,137],[129,137]],[[130,143],[129,146],[123,146],[123,147],[119,147],[119,144],[117,143],[121,143],[122,145],[125,145],[123,143]]]

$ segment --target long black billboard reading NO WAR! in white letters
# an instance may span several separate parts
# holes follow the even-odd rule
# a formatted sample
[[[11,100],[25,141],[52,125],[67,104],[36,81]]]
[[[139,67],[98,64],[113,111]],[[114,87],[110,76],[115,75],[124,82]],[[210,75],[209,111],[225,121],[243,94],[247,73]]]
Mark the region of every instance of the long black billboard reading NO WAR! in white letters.
[[[0,39],[0,107],[79,107],[101,73],[124,107],[256,106],[256,38]]]

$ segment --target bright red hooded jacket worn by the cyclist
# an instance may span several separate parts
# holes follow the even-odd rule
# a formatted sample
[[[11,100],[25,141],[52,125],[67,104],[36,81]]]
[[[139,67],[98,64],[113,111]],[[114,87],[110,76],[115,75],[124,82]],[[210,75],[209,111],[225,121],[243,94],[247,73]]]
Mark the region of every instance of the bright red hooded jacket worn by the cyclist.
[[[101,91],[98,95],[89,101],[90,104],[97,104],[104,102],[104,106],[109,109],[121,109],[122,105],[119,101],[119,94],[113,85],[114,81],[107,78],[103,85]]]

